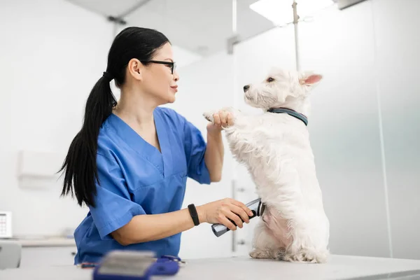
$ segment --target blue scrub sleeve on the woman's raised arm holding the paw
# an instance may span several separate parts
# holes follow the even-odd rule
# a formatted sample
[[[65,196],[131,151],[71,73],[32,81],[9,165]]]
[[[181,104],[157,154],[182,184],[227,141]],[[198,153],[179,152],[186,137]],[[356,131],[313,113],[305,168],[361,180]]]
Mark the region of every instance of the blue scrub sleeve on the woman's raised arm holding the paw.
[[[202,133],[185,119],[183,127],[188,177],[198,183],[209,184],[211,183],[209,169],[204,162],[207,144],[202,137]]]

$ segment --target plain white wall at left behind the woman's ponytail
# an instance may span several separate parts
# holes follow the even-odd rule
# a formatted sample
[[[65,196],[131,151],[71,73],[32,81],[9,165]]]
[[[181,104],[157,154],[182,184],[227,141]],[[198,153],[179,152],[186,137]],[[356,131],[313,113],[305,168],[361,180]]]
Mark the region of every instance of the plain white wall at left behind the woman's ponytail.
[[[60,183],[19,188],[17,152],[65,155],[105,70],[113,28],[66,1],[1,1],[0,15],[0,209],[13,211],[17,236],[59,235],[76,228],[86,209],[59,198]]]

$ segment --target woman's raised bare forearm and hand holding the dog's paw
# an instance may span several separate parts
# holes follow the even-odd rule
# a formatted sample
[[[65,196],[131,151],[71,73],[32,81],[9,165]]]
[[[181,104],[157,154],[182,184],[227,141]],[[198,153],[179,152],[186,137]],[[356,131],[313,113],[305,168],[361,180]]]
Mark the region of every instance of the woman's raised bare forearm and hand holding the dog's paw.
[[[207,125],[207,148],[204,154],[204,162],[209,169],[212,182],[221,181],[223,156],[225,154],[222,139],[222,128],[233,125],[232,116],[225,111],[219,111],[213,115],[214,123]]]

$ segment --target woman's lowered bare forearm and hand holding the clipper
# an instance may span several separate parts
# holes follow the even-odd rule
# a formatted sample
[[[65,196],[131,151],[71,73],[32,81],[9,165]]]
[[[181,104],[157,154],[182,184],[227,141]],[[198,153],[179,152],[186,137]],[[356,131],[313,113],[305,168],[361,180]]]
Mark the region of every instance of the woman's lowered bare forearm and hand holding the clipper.
[[[230,230],[236,230],[230,220],[235,221],[239,228],[249,223],[252,211],[242,202],[225,198],[196,207],[200,223],[222,223]],[[113,239],[123,246],[141,242],[153,241],[176,235],[179,232],[194,227],[193,218],[188,209],[165,214],[137,215],[122,228],[111,232]]]

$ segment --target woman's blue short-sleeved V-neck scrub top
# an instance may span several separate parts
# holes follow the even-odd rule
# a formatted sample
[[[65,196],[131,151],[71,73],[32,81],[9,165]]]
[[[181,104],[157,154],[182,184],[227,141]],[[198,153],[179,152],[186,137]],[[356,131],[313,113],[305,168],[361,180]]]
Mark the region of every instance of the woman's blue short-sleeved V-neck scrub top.
[[[128,246],[110,235],[136,215],[181,209],[187,177],[210,183],[200,130],[172,109],[158,107],[153,116],[162,153],[118,116],[111,114],[104,121],[98,137],[96,207],[89,207],[74,232],[75,264],[99,262],[102,255],[116,249],[178,256],[181,233]]]

